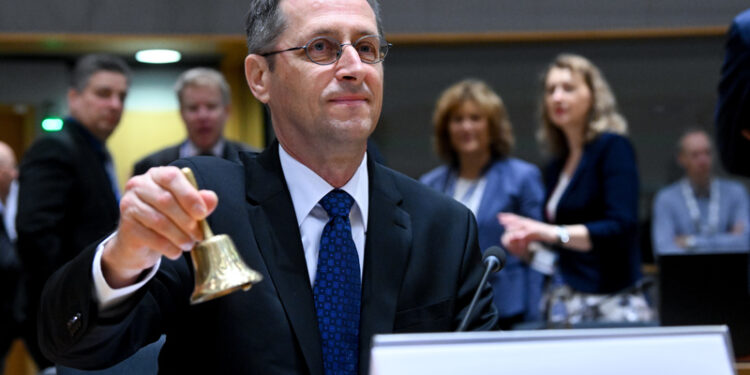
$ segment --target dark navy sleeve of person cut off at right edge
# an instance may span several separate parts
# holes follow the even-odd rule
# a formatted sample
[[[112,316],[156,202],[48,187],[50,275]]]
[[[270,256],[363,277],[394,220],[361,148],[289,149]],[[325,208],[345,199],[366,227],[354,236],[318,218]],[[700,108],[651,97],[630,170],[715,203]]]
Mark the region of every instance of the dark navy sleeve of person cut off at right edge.
[[[724,166],[731,173],[750,176],[750,9],[740,13],[729,28],[721,67],[716,106],[716,143]]]

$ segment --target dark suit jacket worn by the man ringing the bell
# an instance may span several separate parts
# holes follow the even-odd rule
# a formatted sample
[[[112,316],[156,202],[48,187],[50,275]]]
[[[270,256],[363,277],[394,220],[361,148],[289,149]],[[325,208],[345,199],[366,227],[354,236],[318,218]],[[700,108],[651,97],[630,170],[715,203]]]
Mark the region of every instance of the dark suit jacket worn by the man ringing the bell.
[[[177,164],[191,167],[201,188],[217,192],[219,206],[209,220],[214,232],[229,234],[264,280],[249,292],[190,306],[189,258],[165,260],[120,311],[101,317],[91,293],[91,247],[47,284],[39,325],[50,358],[104,367],[165,332],[161,373],[323,373],[312,287],[278,143],[241,159],[242,165],[206,157]],[[372,161],[368,171],[362,374],[376,333],[455,330],[483,270],[466,208]],[[470,329],[495,326],[491,288],[482,292]]]

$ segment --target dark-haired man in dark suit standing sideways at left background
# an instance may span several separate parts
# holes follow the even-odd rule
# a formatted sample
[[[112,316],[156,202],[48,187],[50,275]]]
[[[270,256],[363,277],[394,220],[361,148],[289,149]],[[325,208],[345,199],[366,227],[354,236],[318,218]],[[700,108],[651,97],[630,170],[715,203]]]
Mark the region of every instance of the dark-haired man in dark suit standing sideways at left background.
[[[25,338],[40,368],[51,363],[36,344],[36,312],[44,283],[119,218],[112,159],[105,141],[120,122],[130,70],[120,58],[78,60],[68,90],[70,117],[23,157],[19,175],[18,253],[28,277]]]

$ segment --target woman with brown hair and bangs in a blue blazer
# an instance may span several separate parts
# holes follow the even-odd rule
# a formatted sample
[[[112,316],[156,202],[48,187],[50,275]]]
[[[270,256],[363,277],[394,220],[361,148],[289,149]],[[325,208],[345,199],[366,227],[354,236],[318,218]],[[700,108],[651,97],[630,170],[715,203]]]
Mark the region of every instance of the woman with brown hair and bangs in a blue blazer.
[[[454,84],[438,100],[433,123],[437,153],[447,164],[421,181],[474,213],[483,250],[500,244],[499,212],[541,219],[541,175],[535,166],[508,156],[513,147],[511,124],[492,89],[478,80]],[[501,329],[541,320],[542,274],[509,255],[502,272],[490,277]]]

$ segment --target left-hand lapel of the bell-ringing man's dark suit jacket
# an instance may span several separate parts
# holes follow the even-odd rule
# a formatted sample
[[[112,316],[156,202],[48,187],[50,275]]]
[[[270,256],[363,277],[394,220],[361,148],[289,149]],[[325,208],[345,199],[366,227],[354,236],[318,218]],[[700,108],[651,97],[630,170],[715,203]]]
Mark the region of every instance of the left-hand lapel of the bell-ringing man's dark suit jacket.
[[[323,362],[315,303],[294,206],[279,162],[278,143],[246,165],[248,212],[258,248],[299,341],[311,374],[322,374]],[[255,160],[252,160],[255,159]]]

